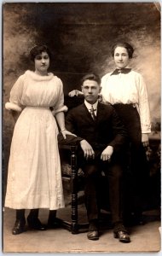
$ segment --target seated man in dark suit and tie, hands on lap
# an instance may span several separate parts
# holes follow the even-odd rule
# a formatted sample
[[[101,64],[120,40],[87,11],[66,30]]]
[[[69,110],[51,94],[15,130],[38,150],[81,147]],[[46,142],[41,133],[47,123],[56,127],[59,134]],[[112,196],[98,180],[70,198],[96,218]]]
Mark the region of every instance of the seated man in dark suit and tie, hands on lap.
[[[124,228],[121,212],[121,148],[126,141],[126,132],[117,113],[111,105],[98,102],[101,80],[95,74],[88,74],[82,80],[84,103],[72,108],[66,117],[66,128],[77,137],[67,136],[59,142],[80,145],[78,166],[85,177],[85,206],[89,220],[88,239],[98,240],[99,210],[97,189],[101,172],[108,177],[110,210],[112,213],[113,233],[119,241],[130,242]],[[108,204],[108,202],[107,202]]]

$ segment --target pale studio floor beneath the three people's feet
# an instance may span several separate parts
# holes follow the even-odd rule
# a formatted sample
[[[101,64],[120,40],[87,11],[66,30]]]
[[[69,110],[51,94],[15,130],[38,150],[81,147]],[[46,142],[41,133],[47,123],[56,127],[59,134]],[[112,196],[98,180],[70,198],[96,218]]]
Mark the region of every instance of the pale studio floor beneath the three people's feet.
[[[26,215],[27,215],[26,211]],[[39,218],[47,222],[48,210],[40,210]],[[58,218],[70,220],[71,207],[57,212]],[[78,206],[79,222],[86,222],[84,205]],[[113,238],[112,229],[101,229],[100,239],[90,241],[86,232],[72,235],[63,227],[55,230],[26,230],[13,236],[11,230],[14,224],[15,212],[4,208],[3,211],[3,253],[158,253],[161,250],[160,214],[159,210],[143,212],[146,220],[144,225],[129,228],[130,243],[119,242]]]

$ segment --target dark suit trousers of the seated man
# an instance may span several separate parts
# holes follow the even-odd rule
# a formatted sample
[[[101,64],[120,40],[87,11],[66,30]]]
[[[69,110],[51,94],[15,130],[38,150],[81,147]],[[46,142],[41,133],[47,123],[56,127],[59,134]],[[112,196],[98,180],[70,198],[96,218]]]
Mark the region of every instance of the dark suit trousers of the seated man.
[[[82,169],[85,177],[84,195],[85,207],[89,222],[99,217],[99,197],[101,188],[101,172],[107,177],[108,195],[105,204],[110,206],[112,222],[122,221],[122,167],[118,162],[83,160]],[[107,189],[106,189],[107,190]]]

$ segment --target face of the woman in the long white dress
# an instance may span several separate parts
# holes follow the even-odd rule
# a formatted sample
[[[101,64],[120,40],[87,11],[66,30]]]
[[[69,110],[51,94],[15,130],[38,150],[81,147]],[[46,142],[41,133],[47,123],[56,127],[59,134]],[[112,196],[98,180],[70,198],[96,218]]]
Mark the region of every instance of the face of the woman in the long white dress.
[[[36,55],[34,62],[37,73],[41,75],[47,74],[49,68],[49,55],[47,52],[42,52],[40,55]]]

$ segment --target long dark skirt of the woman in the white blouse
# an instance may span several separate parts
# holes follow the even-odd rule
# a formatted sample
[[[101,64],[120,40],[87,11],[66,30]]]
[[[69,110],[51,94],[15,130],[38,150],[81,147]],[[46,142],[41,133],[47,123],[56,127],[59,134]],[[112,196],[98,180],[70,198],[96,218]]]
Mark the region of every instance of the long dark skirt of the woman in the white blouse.
[[[131,212],[144,210],[148,191],[148,160],[142,146],[140,116],[135,104],[114,104],[127,130],[129,143],[125,149],[124,208]]]

